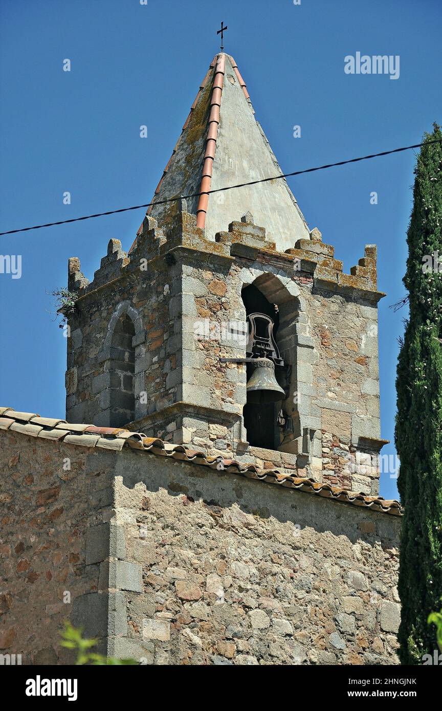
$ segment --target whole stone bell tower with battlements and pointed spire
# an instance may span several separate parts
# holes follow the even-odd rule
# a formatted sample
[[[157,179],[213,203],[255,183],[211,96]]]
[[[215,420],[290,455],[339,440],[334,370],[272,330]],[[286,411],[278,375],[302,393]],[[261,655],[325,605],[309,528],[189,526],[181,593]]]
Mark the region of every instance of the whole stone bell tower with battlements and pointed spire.
[[[131,250],[110,240],[90,283],[69,261],[67,419],[374,495],[376,247],[344,274],[284,178],[209,194],[278,175],[220,53]],[[264,375],[257,397],[250,378]]]

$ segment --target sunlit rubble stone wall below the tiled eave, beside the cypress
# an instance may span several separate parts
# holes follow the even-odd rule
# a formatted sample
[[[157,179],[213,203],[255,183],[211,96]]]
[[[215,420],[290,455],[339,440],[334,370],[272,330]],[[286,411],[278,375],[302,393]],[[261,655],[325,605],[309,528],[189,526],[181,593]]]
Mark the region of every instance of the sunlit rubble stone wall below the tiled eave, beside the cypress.
[[[128,635],[148,663],[398,663],[397,518],[127,456],[116,516],[143,581]]]

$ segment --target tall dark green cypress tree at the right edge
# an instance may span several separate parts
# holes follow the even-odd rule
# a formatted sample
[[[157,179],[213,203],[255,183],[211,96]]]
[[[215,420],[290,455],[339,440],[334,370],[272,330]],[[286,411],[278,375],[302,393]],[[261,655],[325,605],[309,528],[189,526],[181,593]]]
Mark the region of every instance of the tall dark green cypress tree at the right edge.
[[[429,143],[435,139],[442,139],[437,124],[424,136],[414,171],[404,277],[409,319],[396,381],[402,664],[421,664],[437,649],[427,619],[442,608],[442,143]]]

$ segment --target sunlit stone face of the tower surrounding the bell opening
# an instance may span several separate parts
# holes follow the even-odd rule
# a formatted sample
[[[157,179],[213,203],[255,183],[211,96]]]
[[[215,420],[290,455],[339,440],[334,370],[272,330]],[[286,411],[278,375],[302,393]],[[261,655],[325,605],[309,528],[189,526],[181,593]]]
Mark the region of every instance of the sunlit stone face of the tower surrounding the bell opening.
[[[238,225],[249,239],[264,240],[264,230],[241,223],[234,223],[234,229],[220,233],[218,239],[232,243]],[[256,257],[252,252],[251,258],[237,256],[234,262],[211,269],[200,264],[198,252],[183,253],[181,258],[186,293],[183,363],[188,363],[183,368],[183,400],[210,407],[212,413],[181,422],[174,441],[191,443],[214,456],[228,450],[241,461],[296,468],[301,476],[378,493],[376,303],[362,291],[325,292],[311,273],[293,269],[287,255],[267,251]],[[278,305],[277,341],[292,366],[289,397],[282,407],[293,417],[295,434],[287,437],[281,432],[280,451],[247,449],[241,416],[247,397],[245,368],[219,362],[220,356],[245,355],[244,338],[241,342],[235,335],[235,324],[245,322],[241,290],[247,284],[256,284]],[[237,413],[235,425],[220,426],[220,411]],[[306,429],[311,437],[307,446]],[[145,431],[156,434],[154,428]]]

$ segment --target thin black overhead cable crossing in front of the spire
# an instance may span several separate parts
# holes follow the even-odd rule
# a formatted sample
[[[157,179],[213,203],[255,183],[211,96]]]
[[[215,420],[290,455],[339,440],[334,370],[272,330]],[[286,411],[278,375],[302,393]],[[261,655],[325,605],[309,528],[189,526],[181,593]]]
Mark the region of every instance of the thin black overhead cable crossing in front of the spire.
[[[379,158],[379,156],[389,156],[392,153],[400,153],[401,151],[409,151],[413,148],[421,148],[421,146],[428,146],[433,143],[440,143],[442,139],[435,139],[433,141],[425,141],[425,143],[416,143],[414,146],[404,146],[403,148],[395,148],[392,151],[382,151],[382,153],[373,153],[370,156],[361,156],[360,158],[352,158],[348,161],[339,161],[338,163],[328,163],[325,166],[317,166],[316,168],[307,168],[303,171],[293,171],[292,173],[283,173],[278,176],[271,176],[271,178],[261,178],[260,180],[252,180],[248,183],[237,183],[237,185],[229,185],[225,188],[216,188],[215,190],[204,191],[203,193],[190,193],[190,195],[181,195],[176,198],[167,198],[166,200],[156,200],[152,203],[146,203],[145,205],[133,205],[131,208],[119,208],[119,210],[107,210],[105,213],[96,213],[95,215],[85,215],[82,218],[71,218],[70,220],[60,220],[54,223],[45,223],[45,225],[33,225],[32,227],[23,227],[20,230],[8,230],[7,232],[0,232],[1,235],[14,235],[16,232],[28,232],[28,230],[41,230],[44,227],[55,227],[55,225],[67,225],[72,222],[80,222],[80,220],[92,220],[92,218],[102,218],[104,215],[116,215],[117,213],[126,213],[129,210],[140,210],[141,208],[150,208],[151,205],[164,205],[165,203],[174,203],[181,199],[188,200],[188,198],[198,198],[200,195],[212,195],[212,193],[222,193],[225,190],[235,190],[235,188],[245,188],[249,185],[257,185],[258,183],[268,183],[272,180],[280,180],[281,178],[291,178],[293,176],[300,176],[303,173],[314,173],[315,171],[323,171],[327,168],[335,168],[336,166],[345,166],[349,163],[357,163],[359,161],[367,161],[371,158]]]

